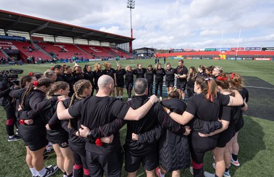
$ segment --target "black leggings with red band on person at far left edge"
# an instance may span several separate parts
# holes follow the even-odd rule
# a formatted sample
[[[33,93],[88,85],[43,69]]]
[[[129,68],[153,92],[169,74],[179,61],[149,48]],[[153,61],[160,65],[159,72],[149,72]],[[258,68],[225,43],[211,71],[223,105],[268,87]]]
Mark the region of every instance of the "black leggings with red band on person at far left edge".
[[[5,123],[5,129],[7,130],[8,136],[14,135],[14,122],[16,121],[14,106],[9,106],[5,109],[5,115],[7,116],[7,121]]]

